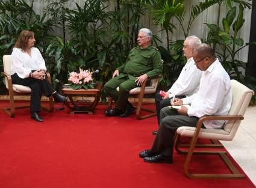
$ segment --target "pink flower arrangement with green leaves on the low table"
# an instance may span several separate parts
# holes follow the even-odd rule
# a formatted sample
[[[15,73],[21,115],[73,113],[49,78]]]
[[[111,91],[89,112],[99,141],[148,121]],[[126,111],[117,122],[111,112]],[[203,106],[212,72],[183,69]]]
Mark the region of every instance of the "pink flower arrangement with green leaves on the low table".
[[[93,78],[92,73],[89,70],[83,70],[80,68],[80,73],[76,73],[72,71],[69,73],[69,81],[71,82],[71,88],[72,89],[88,89],[93,88]]]

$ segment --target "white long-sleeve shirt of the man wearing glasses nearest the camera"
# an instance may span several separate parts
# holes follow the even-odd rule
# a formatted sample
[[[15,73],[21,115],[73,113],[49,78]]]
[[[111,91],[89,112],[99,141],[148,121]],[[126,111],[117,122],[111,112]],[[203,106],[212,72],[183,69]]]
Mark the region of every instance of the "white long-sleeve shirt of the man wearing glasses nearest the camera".
[[[191,104],[187,114],[198,118],[204,115],[228,115],[232,103],[231,82],[225,69],[216,61],[202,73],[198,92],[183,99]],[[225,121],[204,121],[207,129],[221,129]]]

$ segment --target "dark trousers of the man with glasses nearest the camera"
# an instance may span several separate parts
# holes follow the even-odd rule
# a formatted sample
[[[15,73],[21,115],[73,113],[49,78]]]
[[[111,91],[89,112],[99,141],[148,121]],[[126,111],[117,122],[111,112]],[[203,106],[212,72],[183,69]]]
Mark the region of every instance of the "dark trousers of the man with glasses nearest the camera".
[[[174,136],[178,127],[196,127],[199,118],[179,115],[175,109],[165,107],[161,109],[160,119],[160,127],[150,151],[154,154],[163,154],[172,158]]]

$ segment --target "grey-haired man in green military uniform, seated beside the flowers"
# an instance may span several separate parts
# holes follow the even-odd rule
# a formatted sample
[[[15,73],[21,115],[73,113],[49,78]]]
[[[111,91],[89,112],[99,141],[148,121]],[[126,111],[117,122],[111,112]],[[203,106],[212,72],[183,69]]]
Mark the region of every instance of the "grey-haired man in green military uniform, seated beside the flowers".
[[[118,67],[113,78],[104,85],[107,96],[116,102],[116,108],[105,112],[106,116],[128,117],[134,112],[133,105],[128,102],[129,91],[142,83],[148,77],[161,74],[163,64],[161,55],[156,47],[151,46],[152,32],[140,29],[137,42],[139,46],[131,49],[125,64]],[[116,88],[119,86],[119,91]]]

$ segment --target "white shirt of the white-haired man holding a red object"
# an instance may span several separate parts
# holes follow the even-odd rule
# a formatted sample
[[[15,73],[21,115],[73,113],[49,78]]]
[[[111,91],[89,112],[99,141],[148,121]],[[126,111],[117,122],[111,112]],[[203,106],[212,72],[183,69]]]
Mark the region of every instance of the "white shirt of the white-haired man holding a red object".
[[[192,96],[199,89],[201,76],[202,71],[196,67],[193,58],[189,58],[168,92],[176,96]]]

